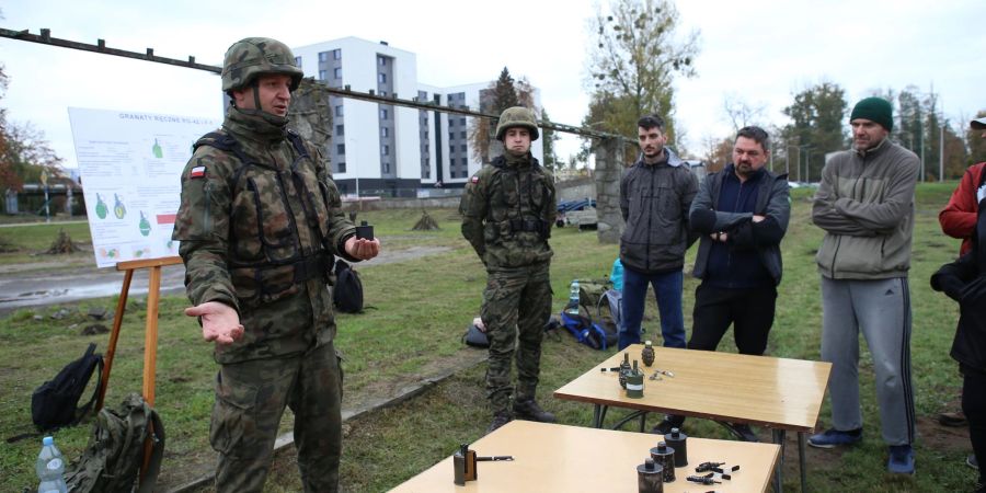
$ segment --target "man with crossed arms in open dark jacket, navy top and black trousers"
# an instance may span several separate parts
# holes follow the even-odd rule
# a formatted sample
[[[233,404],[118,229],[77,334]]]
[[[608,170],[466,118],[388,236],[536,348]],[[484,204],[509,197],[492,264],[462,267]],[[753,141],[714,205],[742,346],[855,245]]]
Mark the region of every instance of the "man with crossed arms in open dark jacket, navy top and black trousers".
[[[715,351],[733,325],[741,354],[761,355],[773,325],[781,279],[780,241],[791,216],[787,175],[764,169],[769,137],[760,127],[736,134],[733,162],[706,177],[691,203],[691,229],[701,234],[695,276],[689,349]],[[683,416],[658,425],[666,433]],[[748,425],[729,425],[744,440],[757,442]]]

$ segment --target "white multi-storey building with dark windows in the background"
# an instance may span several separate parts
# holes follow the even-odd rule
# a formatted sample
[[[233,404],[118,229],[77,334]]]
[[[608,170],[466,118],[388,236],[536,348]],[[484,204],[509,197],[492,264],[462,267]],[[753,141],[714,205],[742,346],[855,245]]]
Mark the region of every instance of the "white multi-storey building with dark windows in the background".
[[[383,42],[345,37],[293,50],[306,77],[332,88],[480,110],[481,93],[491,85],[423,84],[416,56]],[[535,105],[540,106],[537,90]],[[433,195],[439,188],[461,188],[482,167],[469,139],[472,117],[337,96],[330,98],[330,106],[332,148],[323,152],[344,195]],[[540,139],[531,152],[541,159]]]

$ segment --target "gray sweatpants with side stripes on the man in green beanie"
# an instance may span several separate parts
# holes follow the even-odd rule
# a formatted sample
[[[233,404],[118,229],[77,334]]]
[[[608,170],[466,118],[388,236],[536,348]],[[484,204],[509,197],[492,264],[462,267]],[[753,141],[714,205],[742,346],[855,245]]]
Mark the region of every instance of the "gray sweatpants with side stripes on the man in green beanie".
[[[832,363],[832,424],[862,427],[859,404],[859,332],[876,374],[876,399],[887,445],[914,442],[910,381],[910,293],[906,277],[876,280],[822,276],[822,359]]]

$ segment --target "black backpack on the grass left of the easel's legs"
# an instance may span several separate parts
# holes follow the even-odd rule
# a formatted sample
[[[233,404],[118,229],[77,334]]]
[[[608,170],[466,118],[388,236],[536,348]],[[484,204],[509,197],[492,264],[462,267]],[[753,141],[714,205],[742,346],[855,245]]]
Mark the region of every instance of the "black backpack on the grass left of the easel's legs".
[[[96,368],[99,372],[92,398],[79,406],[79,399]],[[44,382],[31,395],[31,419],[37,428],[47,432],[82,421],[100,394],[102,374],[103,355],[95,354],[95,344],[91,343],[81,358],[66,365],[55,378]]]

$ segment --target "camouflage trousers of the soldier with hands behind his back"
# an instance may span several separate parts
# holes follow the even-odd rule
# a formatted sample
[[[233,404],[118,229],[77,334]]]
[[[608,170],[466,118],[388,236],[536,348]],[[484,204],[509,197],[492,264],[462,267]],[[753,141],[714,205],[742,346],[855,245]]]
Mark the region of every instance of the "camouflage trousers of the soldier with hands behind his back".
[[[515,399],[535,398],[541,364],[541,341],[551,313],[549,262],[526,267],[491,268],[480,317],[490,339],[486,392],[493,413],[511,402],[511,366],[516,352]]]

